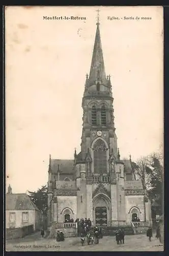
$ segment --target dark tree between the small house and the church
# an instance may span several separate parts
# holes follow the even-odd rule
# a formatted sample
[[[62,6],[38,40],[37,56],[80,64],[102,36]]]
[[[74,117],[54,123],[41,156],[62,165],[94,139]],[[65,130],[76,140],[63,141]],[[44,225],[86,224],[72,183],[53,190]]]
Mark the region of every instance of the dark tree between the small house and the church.
[[[47,185],[42,186],[37,191],[29,191],[29,197],[41,211],[43,216],[47,216]]]

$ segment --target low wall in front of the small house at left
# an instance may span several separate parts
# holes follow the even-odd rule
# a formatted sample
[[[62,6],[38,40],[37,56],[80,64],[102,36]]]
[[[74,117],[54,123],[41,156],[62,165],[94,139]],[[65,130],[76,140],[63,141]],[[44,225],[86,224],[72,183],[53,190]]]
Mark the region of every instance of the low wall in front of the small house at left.
[[[34,226],[24,226],[18,228],[6,228],[6,240],[9,239],[16,239],[16,238],[23,238],[27,234],[31,234],[34,232]]]

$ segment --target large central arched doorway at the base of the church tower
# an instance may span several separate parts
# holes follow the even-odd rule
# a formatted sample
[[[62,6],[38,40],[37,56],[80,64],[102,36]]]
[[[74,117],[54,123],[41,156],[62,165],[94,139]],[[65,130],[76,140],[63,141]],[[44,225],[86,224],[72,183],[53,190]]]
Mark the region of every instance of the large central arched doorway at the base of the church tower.
[[[98,226],[111,225],[110,199],[104,194],[99,194],[93,199],[93,223]]]

